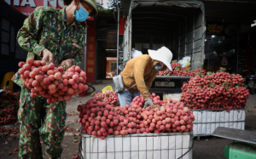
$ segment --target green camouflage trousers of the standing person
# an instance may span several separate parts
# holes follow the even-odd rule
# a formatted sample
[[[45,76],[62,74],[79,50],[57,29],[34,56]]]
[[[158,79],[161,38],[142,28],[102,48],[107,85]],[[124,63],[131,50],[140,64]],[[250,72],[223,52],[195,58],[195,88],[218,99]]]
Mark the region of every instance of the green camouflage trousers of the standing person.
[[[46,145],[45,152],[51,159],[61,156],[61,141],[67,118],[66,101],[48,104],[42,97],[32,98],[28,89],[22,88],[20,94],[20,149],[19,158],[41,159],[40,136]]]

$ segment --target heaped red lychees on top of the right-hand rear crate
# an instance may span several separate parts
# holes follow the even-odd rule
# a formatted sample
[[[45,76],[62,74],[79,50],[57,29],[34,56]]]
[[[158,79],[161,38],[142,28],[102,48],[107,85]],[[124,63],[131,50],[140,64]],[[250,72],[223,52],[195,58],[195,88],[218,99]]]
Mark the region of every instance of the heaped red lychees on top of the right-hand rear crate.
[[[217,72],[206,77],[191,77],[183,85],[181,101],[191,109],[240,109],[245,107],[248,89],[243,87],[243,78],[226,72]]]

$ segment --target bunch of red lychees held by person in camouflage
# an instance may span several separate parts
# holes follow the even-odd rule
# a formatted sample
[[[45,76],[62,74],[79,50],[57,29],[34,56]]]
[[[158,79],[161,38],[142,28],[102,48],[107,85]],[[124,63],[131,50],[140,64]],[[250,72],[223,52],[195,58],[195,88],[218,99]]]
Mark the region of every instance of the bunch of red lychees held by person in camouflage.
[[[41,60],[28,58],[25,62],[19,63],[20,77],[23,85],[31,92],[30,96],[44,97],[47,103],[56,101],[69,101],[73,95],[82,93],[88,89],[86,73],[80,70],[79,66],[66,65],[55,67],[54,63],[46,64]]]

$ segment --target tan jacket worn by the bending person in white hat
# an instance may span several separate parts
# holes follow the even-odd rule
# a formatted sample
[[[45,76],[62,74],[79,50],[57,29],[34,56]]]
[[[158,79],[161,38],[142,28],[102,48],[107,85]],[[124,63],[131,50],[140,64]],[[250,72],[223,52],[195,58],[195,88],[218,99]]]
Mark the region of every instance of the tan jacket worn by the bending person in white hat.
[[[136,83],[137,85],[129,89],[129,91],[131,93],[141,92],[144,99],[149,99],[150,94],[148,90],[151,88],[158,72],[153,70],[153,66],[158,62],[158,60],[151,59],[148,54],[143,54],[129,60],[125,65],[124,71],[121,72],[125,88],[131,88]],[[161,69],[161,71],[163,70],[166,70],[166,66]],[[146,77],[147,75],[148,77]],[[146,78],[144,79],[144,77]]]

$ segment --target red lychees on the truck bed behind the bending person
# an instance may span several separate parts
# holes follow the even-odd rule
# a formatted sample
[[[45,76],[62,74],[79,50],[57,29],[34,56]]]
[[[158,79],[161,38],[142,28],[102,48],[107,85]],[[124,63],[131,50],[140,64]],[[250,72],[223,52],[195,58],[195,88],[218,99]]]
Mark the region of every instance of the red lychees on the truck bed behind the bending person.
[[[204,76],[206,75],[205,70],[196,69],[190,70],[189,67],[182,67],[180,64],[173,63],[171,64],[172,71],[167,69],[166,71],[159,71],[158,76],[178,76],[178,77],[195,77],[195,76]]]

